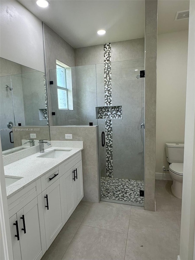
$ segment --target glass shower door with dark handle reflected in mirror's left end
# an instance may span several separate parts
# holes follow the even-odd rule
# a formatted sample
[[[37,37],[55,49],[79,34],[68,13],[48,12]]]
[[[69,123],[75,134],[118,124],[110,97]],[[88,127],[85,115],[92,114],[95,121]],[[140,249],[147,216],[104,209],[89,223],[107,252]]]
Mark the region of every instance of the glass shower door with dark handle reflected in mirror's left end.
[[[0,135],[2,151],[14,148],[12,129],[8,128],[8,122],[15,126],[12,84],[10,76],[0,78]]]

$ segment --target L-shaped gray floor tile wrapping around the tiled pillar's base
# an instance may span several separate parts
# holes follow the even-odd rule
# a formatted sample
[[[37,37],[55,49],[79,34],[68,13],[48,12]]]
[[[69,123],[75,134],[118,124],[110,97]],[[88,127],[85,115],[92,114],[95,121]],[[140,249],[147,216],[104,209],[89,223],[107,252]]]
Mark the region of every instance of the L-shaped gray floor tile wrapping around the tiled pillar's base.
[[[142,213],[145,215],[161,216],[166,218],[176,218],[176,212],[173,207],[171,198],[155,196],[156,211],[144,210],[144,208],[132,206],[131,213]]]

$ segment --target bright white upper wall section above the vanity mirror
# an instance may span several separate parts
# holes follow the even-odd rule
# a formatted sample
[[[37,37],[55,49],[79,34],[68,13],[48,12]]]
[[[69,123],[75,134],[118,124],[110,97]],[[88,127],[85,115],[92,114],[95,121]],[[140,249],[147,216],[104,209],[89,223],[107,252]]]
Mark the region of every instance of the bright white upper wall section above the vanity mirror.
[[[42,22],[17,1],[1,1],[0,56],[45,72]]]

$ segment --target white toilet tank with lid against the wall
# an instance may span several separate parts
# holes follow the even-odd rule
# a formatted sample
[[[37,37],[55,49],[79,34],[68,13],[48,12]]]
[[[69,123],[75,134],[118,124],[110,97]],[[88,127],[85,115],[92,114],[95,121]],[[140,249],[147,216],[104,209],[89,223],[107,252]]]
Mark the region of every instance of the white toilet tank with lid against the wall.
[[[179,162],[183,163],[184,144],[166,143],[165,144],[166,157],[169,163]]]

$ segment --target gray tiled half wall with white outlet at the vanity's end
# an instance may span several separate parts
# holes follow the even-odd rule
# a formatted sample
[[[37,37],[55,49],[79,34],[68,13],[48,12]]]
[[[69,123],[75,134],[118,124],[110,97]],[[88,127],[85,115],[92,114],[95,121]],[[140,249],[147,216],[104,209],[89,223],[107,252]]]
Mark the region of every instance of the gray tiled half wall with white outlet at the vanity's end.
[[[83,141],[83,184],[85,201],[99,202],[98,127],[97,126],[51,126],[52,141],[68,141],[65,134],[72,134],[69,141]]]

